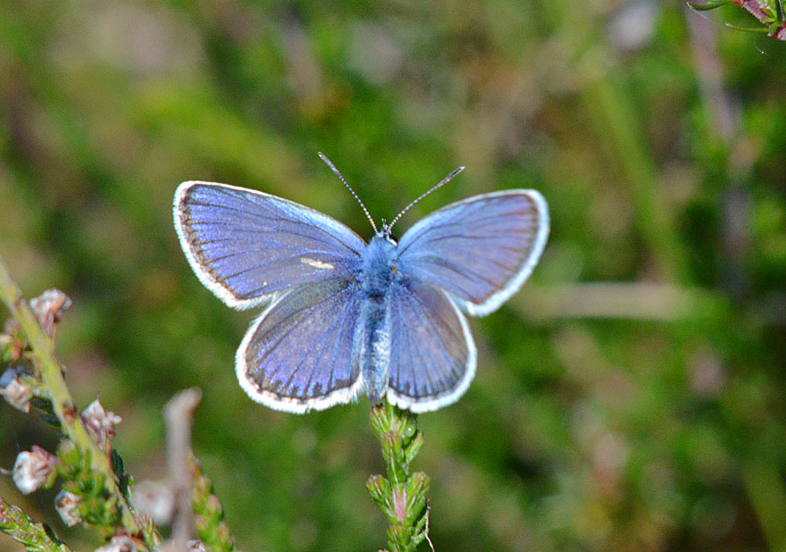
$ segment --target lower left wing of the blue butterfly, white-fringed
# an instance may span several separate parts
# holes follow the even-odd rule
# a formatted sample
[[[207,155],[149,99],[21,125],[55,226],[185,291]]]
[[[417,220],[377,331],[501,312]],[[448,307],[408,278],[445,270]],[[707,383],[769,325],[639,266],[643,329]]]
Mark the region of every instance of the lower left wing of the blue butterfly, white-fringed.
[[[276,297],[251,324],[235,358],[248,395],[297,414],[352,400],[362,385],[357,291],[354,280],[334,278]]]

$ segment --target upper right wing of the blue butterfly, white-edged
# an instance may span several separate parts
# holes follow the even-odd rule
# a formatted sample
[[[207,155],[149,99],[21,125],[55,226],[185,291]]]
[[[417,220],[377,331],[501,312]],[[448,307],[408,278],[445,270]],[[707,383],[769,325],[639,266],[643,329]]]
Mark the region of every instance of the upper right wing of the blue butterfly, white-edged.
[[[538,263],[548,207],[535,190],[470,197],[417,222],[398,243],[400,269],[446,290],[467,314],[502,305]]]

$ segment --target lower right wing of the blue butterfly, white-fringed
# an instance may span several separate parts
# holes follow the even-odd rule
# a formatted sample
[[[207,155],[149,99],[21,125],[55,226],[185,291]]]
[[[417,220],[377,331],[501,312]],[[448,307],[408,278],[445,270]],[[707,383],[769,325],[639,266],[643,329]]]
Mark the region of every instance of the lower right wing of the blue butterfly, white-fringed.
[[[445,292],[412,279],[391,287],[390,305],[389,402],[415,413],[456,402],[477,358],[464,314]]]

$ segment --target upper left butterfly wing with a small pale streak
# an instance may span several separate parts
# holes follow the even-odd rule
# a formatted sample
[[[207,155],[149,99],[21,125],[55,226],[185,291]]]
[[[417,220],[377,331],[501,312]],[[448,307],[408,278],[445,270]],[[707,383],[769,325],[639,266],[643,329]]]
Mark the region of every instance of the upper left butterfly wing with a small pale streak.
[[[173,212],[180,246],[197,277],[237,309],[283,289],[347,278],[365,247],[326,214],[226,184],[183,182]]]

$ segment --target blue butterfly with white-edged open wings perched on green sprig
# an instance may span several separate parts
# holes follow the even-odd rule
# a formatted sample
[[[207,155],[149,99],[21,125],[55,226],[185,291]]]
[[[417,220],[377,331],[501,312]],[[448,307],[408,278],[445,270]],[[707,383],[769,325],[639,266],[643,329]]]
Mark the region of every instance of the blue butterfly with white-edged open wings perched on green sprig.
[[[365,392],[414,413],[455,402],[475,374],[464,314],[498,309],[530,276],[548,237],[535,190],[510,189],[442,207],[407,230],[366,243],[330,216],[263,192],[191,180],[174,223],[199,280],[235,309],[263,306],[235,356],[256,402],[305,413]]]

